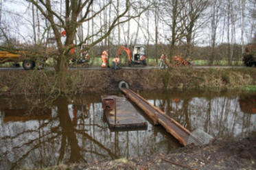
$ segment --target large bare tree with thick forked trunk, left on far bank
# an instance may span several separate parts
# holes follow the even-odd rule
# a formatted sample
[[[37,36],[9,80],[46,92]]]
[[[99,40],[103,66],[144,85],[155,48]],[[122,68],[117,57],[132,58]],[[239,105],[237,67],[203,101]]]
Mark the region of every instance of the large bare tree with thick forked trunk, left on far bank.
[[[55,70],[58,75],[56,77],[56,80],[58,82],[58,89],[59,94],[67,93],[66,88],[66,82],[67,82],[67,66],[68,61],[71,58],[70,50],[73,47],[80,47],[82,43],[89,42],[88,48],[93,47],[94,45],[97,45],[97,43],[102,42],[102,40],[106,40],[106,38],[110,35],[110,32],[119,24],[126,23],[127,21],[130,21],[130,19],[134,19],[138,16],[140,16],[143,12],[147,10],[147,6],[143,6],[143,9],[139,14],[136,15],[126,15],[128,13],[128,10],[133,8],[133,6],[137,6],[139,1],[132,1],[132,0],[126,0],[125,1],[125,7],[123,9],[120,9],[120,13],[115,16],[112,16],[112,19],[109,20],[109,25],[106,27],[105,23],[104,25],[100,25],[103,27],[98,27],[97,31],[94,32],[93,35],[87,35],[86,38],[81,40],[79,44],[73,45],[74,40],[76,37],[76,32],[78,30],[78,27],[80,27],[83,23],[89,23],[92,19],[95,19],[99,14],[102,14],[107,11],[107,8],[110,6],[111,3],[113,3],[113,0],[104,0],[104,5],[98,5],[97,1],[93,0],[79,0],[79,1],[65,1],[65,10],[64,16],[60,14],[60,11],[58,8],[56,8],[56,5],[54,1],[51,0],[26,0],[28,3],[32,3],[34,7],[36,7],[40,13],[45,17],[45,21],[47,22],[47,26],[51,27],[51,30],[54,34],[54,38],[56,39],[56,47],[57,50],[54,51],[54,60],[56,61]],[[95,11],[93,12],[93,15],[91,14],[91,9],[93,5],[97,5],[97,8],[94,8]],[[61,9],[61,8],[60,8]],[[105,28],[105,29],[104,29]],[[61,31],[60,31],[61,30]],[[65,30],[66,32],[66,39],[65,43],[62,44],[61,41],[61,32]],[[102,32],[104,30],[104,32]],[[102,32],[102,34],[100,34]]]

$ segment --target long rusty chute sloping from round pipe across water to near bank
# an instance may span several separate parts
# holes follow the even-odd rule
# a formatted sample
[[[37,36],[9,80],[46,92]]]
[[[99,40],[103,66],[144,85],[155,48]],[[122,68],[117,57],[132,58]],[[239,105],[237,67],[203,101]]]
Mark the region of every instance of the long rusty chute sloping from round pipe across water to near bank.
[[[168,117],[162,110],[150,104],[139,94],[127,88],[121,88],[121,91],[126,94],[126,97],[131,99],[135,104],[137,104],[137,106],[146,112],[148,117],[154,121],[154,124],[159,123],[165,127],[165,130],[172,134],[172,136],[174,136],[182,145],[185,146],[191,143],[194,143],[195,145],[202,145],[202,142],[198,140],[198,138],[195,138],[189,130],[171,117]]]

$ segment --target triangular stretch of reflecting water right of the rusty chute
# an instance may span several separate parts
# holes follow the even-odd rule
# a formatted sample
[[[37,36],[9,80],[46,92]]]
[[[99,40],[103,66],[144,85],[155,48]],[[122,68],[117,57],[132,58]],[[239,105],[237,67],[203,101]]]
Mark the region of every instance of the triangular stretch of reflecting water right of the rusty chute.
[[[191,132],[200,128],[214,137],[237,139],[256,130],[255,94],[169,92],[142,95]]]

